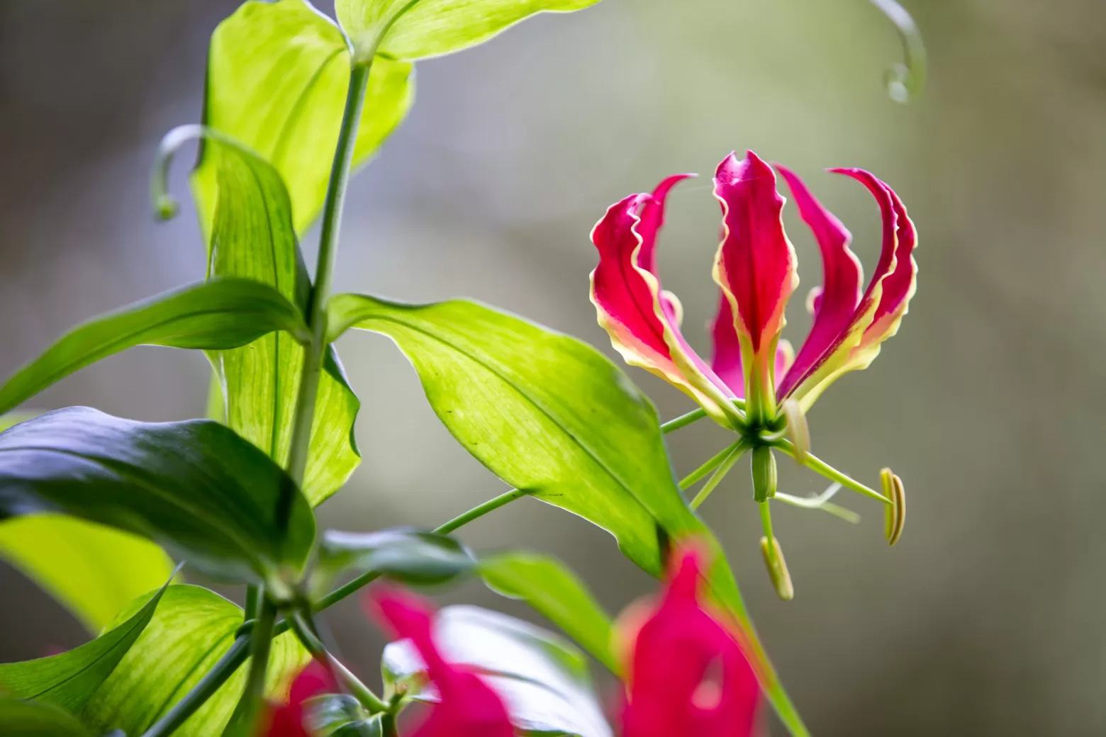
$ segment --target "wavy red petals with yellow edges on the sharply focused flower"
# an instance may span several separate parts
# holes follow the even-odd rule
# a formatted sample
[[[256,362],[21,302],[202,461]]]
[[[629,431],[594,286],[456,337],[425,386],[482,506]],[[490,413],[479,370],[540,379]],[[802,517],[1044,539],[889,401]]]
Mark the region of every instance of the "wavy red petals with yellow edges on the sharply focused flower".
[[[627,362],[671,382],[714,420],[739,431],[772,427],[789,399],[805,412],[837,377],[866,368],[898,330],[915,292],[916,231],[890,187],[863,169],[831,169],[867,187],[883,215],[879,262],[862,292],[849,232],[797,176],[776,169],[814,232],[824,273],[823,285],[807,301],[813,326],[793,358],[780,337],[787,299],[799,284],[781,218],[785,200],[772,167],[752,151],[741,160],[731,154],[714,173],[722,239],[713,275],[721,301],[709,366],[680,334],[679,302],[661,288],[656,265],[665,199],[690,175],[669,177],[653,192],[616,202],[592,231],[599,251],[592,302],[614,347]]]

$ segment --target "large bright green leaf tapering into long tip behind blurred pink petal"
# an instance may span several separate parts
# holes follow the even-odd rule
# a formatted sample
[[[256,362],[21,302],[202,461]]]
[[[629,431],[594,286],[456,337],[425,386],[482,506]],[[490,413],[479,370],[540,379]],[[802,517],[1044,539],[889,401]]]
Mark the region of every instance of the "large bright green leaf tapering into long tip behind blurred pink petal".
[[[662,572],[670,539],[710,546],[712,596],[748,632],[784,724],[807,734],[721,547],[677,487],[656,409],[620,369],[575,338],[462,299],[405,305],[343,294],[327,314],[331,338],[354,326],[395,340],[466,450],[508,484],[609,531],[646,571]]]

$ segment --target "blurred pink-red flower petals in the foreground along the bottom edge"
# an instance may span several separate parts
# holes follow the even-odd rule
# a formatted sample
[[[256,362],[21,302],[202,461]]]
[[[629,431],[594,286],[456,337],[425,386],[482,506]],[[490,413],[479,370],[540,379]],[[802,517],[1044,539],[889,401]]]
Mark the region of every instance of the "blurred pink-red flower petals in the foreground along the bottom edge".
[[[705,604],[699,548],[686,545],[674,552],[671,561],[659,603],[628,633],[632,644],[619,735],[750,737],[760,702],[757,675],[738,640]],[[411,737],[515,735],[508,709],[492,687],[477,673],[441,656],[434,641],[432,610],[426,603],[389,587],[377,588],[372,602],[398,638],[411,641],[439,694]],[[303,701],[334,689],[324,667],[309,665],[264,734],[310,737],[303,726]]]

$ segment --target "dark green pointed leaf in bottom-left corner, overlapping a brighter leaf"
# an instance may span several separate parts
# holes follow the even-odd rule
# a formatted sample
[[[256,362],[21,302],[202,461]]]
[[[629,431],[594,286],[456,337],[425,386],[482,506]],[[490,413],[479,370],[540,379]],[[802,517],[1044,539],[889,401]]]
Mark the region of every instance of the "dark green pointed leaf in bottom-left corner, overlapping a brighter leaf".
[[[165,582],[145,597],[146,603],[129,619],[92,642],[60,655],[0,665],[0,692],[76,713],[142,635],[167,587]]]

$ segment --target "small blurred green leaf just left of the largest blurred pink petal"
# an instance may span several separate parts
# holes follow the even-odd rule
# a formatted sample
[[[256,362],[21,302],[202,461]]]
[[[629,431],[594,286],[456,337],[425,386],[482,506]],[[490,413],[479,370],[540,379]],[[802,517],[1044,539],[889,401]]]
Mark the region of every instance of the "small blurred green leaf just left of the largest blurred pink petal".
[[[611,618],[561,561],[532,552],[502,552],[482,559],[480,575],[493,591],[522,599],[612,673],[622,674],[612,652]]]

